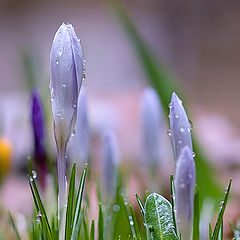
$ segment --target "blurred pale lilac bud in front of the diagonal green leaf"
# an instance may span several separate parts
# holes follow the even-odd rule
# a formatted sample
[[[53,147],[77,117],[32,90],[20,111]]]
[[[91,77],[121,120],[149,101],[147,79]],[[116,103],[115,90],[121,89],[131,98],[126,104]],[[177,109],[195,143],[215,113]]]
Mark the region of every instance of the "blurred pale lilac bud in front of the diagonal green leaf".
[[[162,106],[153,88],[143,92],[141,102],[142,149],[145,162],[156,169],[160,161]]]

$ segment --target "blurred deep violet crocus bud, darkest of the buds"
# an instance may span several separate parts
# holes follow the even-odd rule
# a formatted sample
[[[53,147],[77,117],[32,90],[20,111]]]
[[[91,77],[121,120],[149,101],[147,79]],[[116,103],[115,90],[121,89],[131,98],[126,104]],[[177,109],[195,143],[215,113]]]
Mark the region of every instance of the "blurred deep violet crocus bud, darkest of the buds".
[[[42,189],[46,186],[47,158],[44,146],[44,111],[40,95],[37,89],[32,90],[32,109],[31,109],[32,129],[34,136],[34,159],[36,161],[39,173],[39,179]]]

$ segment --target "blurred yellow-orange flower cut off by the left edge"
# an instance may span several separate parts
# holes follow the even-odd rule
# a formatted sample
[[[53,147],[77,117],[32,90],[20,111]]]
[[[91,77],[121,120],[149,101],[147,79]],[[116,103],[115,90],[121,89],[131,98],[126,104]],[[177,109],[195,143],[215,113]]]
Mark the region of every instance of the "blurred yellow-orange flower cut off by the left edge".
[[[0,138],[0,178],[5,176],[10,168],[12,146],[8,139]]]

